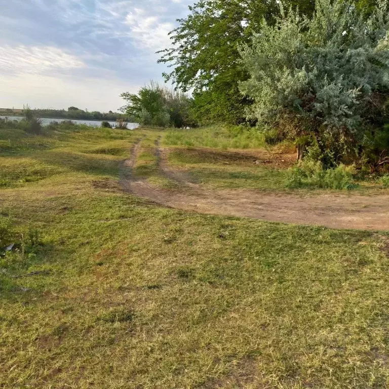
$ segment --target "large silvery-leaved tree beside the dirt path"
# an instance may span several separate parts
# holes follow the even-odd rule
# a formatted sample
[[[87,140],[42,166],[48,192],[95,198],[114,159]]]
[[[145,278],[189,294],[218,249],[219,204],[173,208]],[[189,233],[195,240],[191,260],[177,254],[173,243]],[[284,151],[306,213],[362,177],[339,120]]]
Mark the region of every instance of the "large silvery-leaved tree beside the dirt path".
[[[241,47],[251,77],[240,89],[254,100],[249,114],[259,126],[295,140],[300,158],[313,140],[323,162],[336,164],[381,114],[389,90],[386,5],[367,19],[344,0],[317,0],[312,19],[280,7],[276,24],[264,20]]]

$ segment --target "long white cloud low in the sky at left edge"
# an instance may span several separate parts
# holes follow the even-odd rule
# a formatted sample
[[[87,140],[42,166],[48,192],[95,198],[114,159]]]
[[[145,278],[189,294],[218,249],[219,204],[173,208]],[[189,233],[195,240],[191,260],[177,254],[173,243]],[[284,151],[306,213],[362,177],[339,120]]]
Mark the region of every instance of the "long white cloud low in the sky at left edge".
[[[79,58],[55,47],[0,47],[0,72],[45,74],[85,67]]]

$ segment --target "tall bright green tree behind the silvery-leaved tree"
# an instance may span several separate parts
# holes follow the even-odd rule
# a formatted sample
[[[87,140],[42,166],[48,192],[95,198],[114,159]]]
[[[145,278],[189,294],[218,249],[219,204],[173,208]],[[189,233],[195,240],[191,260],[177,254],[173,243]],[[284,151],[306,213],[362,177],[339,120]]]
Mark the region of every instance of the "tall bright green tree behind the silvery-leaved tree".
[[[377,0],[358,0],[359,8],[369,11]],[[315,0],[284,0],[310,17]],[[193,90],[194,113],[198,121],[240,123],[250,100],[242,97],[238,84],[249,74],[240,61],[238,46],[250,42],[259,32],[262,20],[274,25],[279,16],[276,0],[200,0],[189,7],[171,31],[172,47],[161,51],[160,63],[172,67],[164,73],[183,91]]]

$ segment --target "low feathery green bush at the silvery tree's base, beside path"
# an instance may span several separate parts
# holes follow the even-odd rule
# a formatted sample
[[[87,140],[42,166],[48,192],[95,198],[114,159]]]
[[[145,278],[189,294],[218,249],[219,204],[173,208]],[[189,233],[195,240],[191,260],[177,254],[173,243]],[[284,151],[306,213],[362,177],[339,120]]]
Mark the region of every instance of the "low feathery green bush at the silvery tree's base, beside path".
[[[289,188],[351,189],[354,183],[355,167],[340,164],[333,169],[323,169],[321,162],[306,160],[288,170]]]

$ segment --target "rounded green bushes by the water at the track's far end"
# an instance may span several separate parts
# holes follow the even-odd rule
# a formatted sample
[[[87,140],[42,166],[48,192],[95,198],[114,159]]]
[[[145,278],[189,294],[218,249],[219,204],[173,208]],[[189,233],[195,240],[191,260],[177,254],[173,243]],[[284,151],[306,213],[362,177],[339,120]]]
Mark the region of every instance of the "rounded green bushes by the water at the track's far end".
[[[141,125],[182,127],[192,125],[189,108],[191,99],[184,93],[151,82],[138,94],[122,93],[127,102],[122,111],[132,115]]]

